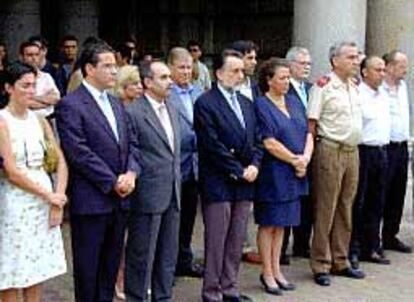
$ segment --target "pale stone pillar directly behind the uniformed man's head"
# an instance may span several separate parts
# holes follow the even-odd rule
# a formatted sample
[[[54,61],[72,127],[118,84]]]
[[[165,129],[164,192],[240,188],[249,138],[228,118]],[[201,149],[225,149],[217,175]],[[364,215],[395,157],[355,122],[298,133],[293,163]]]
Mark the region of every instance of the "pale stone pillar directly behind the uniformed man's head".
[[[313,79],[329,72],[332,44],[355,41],[364,49],[366,11],[366,0],[295,0],[293,45],[309,49]]]

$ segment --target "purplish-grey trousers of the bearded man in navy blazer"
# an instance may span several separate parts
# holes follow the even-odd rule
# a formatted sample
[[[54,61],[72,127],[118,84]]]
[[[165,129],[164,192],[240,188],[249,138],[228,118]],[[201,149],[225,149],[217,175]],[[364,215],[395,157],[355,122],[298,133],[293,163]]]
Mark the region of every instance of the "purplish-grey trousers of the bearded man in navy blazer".
[[[237,297],[237,275],[246,238],[251,202],[203,203],[205,272],[204,302]]]

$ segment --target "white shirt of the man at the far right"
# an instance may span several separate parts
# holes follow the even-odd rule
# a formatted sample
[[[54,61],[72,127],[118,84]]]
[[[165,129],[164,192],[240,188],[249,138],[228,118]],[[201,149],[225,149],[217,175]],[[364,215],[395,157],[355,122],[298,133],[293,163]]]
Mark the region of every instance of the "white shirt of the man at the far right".
[[[407,85],[400,81],[397,91],[390,89],[384,81],[381,89],[388,97],[391,114],[391,137],[392,142],[403,142],[410,138],[410,108],[408,102]]]

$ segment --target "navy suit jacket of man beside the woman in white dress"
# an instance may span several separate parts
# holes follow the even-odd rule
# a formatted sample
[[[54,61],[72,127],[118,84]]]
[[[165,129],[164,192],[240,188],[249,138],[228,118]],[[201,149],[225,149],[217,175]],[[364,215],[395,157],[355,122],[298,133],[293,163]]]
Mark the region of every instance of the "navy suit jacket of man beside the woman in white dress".
[[[118,175],[140,172],[137,142],[127,125],[123,105],[108,95],[114,112],[119,141],[92,95],[81,85],[64,97],[56,108],[56,122],[63,152],[69,165],[72,214],[105,214],[128,198],[118,197],[113,188]]]

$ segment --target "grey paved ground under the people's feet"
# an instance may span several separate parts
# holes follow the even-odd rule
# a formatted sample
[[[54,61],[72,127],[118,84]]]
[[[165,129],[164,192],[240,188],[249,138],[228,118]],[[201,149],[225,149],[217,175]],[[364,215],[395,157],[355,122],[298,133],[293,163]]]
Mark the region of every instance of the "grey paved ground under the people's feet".
[[[407,192],[407,202],[401,238],[414,245],[414,220],[412,216],[411,185]],[[254,234],[255,227],[251,225],[249,231]],[[68,226],[64,227],[65,242],[70,259],[68,246]],[[202,225],[197,221],[194,242],[197,256],[202,253]],[[350,302],[411,302],[414,301],[414,254],[404,255],[389,252],[392,261],[390,266],[363,264],[367,273],[365,280],[348,280],[340,277],[333,279],[328,288],[321,288],[312,281],[308,262],[303,259],[292,259],[289,267],[284,271],[289,280],[296,283],[297,290],[285,294],[283,297],[273,297],[264,294],[259,286],[258,276],[260,267],[243,264],[240,274],[240,287],[243,293],[249,294],[256,302],[270,301],[350,301]],[[70,261],[69,261],[70,263]],[[71,271],[71,269],[69,270]],[[200,301],[201,281],[190,278],[177,280],[174,288],[174,301]],[[71,302],[73,299],[73,283],[71,273],[51,280],[45,285],[47,302]]]

